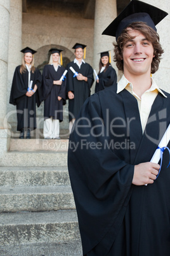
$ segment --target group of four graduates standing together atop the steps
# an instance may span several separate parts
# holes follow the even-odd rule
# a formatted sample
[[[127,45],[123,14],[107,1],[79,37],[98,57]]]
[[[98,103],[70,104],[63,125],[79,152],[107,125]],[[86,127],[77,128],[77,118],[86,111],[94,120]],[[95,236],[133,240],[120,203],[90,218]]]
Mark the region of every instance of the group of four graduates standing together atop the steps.
[[[75,59],[62,66],[62,50],[49,50],[49,63],[44,66],[42,75],[34,67],[34,53],[29,47],[21,50],[22,65],[17,66],[13,75],[10,103],[16,105],[17,131],[20,139],[30,139],[30,131],[36,129],[36,104],[44,101],[45,139],[60,139],[60,122],[63,120],[63,105],[69,99],[69,131],[82,104],[90,96],[94,82],[93,68],[84,61],[86,45],[75,43]],[[86,49],[85,49],[86,50]],[[100,53],[99,72],[96,78],[95,92],[110,87],[117,82],[115,69],[110,64],[110,53]]]

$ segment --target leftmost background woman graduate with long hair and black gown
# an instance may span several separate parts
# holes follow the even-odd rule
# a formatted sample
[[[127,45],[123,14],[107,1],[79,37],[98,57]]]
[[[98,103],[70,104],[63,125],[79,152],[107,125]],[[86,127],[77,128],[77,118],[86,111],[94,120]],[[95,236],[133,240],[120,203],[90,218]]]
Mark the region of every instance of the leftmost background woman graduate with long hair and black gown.
[[[36,129],[36,103],[39,107],[42,101],[40,71],[34,67],[35,50],[29,47],[21,50],[23,52],[22,65],[17,66],[13,75],[11,86],[10,104],[16,105],[17,131],[20,131],[20,139],[30,139],[30,131]],[[28,90],[30,83],[32,86]]]

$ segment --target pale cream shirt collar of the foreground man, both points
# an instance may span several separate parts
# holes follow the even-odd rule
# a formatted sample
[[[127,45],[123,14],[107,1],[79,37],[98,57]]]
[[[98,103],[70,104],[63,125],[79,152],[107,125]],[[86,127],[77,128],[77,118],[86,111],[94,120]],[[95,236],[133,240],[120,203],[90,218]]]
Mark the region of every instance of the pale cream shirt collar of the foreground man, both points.
[[[147,92],[157,89],[160,92],[160,94],[162,94],[162,96],[167,97],[164,94],[164,92],[162,92],[162,90],[159,89],[155,80],[153,78],[151,78],[151,79],[152,79],[152,85],[151,85],[150,89],[147,90]],[[124,75],[122,75],[121,80],[119,80],[119,82],[117,83],[117,94],[119,94],[119,92],[124,90],[128,84],[129,84],[129,87],[131,87],[131,90],[133,90],[133,84],[131,82],[129,82],[128,79],[126,79],[126,77]]]

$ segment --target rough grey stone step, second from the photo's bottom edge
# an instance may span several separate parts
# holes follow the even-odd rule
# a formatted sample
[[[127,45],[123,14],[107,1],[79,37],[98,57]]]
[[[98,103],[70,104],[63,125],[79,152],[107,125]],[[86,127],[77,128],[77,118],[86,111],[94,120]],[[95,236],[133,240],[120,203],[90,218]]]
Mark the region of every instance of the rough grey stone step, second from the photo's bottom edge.
[[[77,213],[75,210],[43,213],[8,213],[8,218],[6,218],[6,213],[1,213],[0,241],[0,255],[3,255],[2,252],[9,250],[12,246],[32,248],[32,245],[35,246],[37,244],[43,248],[44,244],[53,243],[53,246],[55,246],[55,244],[76,243],[76,241],[80,245]],[[64,248],[63,253],[65,253]],[[33,253],[32,255],[40,254]],[[82,255],[81,247],[79,247],[79,254],[77,255]]]

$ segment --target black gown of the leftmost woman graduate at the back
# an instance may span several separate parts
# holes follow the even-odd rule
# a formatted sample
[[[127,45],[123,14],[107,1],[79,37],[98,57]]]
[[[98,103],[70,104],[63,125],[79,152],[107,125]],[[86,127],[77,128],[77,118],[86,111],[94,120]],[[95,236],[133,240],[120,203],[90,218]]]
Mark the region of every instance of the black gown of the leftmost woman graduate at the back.
[[[17,66],[13,75],[10,94],[10,104],[16,105],[17,131],[23,128],[36,129],[36,104],[39,107],[42,101],[42,76],[37,68],[34,73],[30,72],[30,80],[33,81],[32,89],[34,89],[35,84],[37,85],[37,91],[32,97],[27,97],[25,94],[29,86],[29,71],[26,69],[21,74],[20,66]]]

